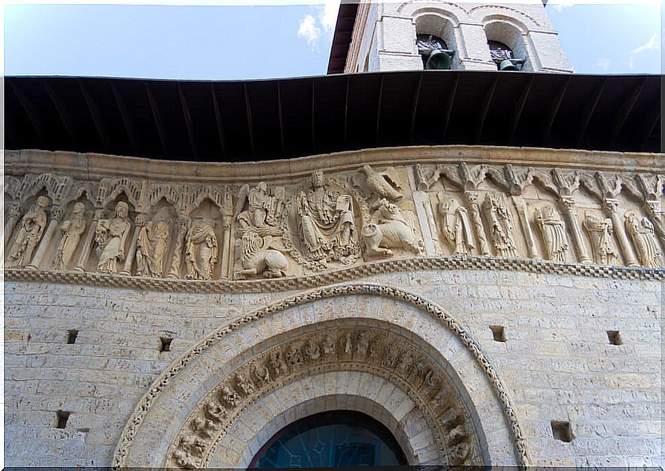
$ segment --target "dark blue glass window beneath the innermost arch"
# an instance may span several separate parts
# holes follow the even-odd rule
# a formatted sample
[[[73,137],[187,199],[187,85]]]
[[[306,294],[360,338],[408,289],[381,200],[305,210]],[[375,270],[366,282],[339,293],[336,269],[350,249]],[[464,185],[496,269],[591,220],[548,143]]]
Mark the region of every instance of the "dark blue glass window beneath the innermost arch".
[[[331,468],[407,464],[390,431],[369,415],[330,411],[282,428],[259,450],[250,468]]]

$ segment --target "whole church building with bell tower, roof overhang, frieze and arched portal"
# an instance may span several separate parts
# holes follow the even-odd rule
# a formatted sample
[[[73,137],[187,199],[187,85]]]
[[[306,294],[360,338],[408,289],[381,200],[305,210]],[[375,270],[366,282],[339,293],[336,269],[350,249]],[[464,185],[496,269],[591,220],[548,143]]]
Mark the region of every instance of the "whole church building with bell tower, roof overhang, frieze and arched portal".
[[[239,88],[259,162],[203,157],[206,100],[223,155],[244,152],[214,85],[207,99],[173,86],[192,154],[152,159],[131,84],[111,82],[109,108],[97,82],[77,83],[92,117],[79,123],[62,113],[77,106],[69,85],[43,82],[68,144],[49,137],[33,82],[10,83],[23,114],[5,152],[5,464],[662,466],[665,177],[662,154],[640,152],[660,121],[651,78],[625,89],[609,137],[594,134],[594,109],[626,82],[569,82],[581,79],[540,4],[343,4],[330,64],[346,93],[322,93],[335,75],[311,82],[301,128],[289,106],[306,106],[282,106],[300,85],[276,82],[274,114],[252,104],[258,85]],[[417,84],[409,138],[377,145],[402,123],[401,71]],[[354,93],[374,93],[356,72],[380,85],[375,144],[352,149],[348,123],[371,108]],[[500,141],[501,126],[519,140],[529,125],[542,72],[563,81],[537,121],[542,145]],[[420,93],[437,77],[455,82],[437,132],[467,139],[461,101],[480,141],[419,140]],[[596,90],[591,110],[567,101],[575,84]],[[501,119],[493,100],[513,85]],[[139,86],[156,145],[178,155],[167,92]],[[343,119],[315,112],[326,98],[346,103]],[[584,149],[543,145],[559,142],[567,107],[585,121]],[[343,121],[348,149],[307,155],[307,132],[314,151],[335,141],[323,114],[331,129]],[[134,148],[124,156],[112,155],[115,115]],[[268,115],[282,158],[257,158]],[[86,125],[107,152],[76,147]]]

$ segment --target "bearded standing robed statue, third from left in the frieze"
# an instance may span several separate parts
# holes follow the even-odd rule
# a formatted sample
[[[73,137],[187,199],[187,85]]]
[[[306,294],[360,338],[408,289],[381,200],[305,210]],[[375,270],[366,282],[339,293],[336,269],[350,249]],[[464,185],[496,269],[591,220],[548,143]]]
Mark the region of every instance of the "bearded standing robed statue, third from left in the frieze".
[[[127,203],[119,202],[115,207],[113,219],[97,221],[95,228],[95,241],[99,252],[97,271],[117,273],[117,263],[125,259],[125,241],[131,228],[128,211]]]

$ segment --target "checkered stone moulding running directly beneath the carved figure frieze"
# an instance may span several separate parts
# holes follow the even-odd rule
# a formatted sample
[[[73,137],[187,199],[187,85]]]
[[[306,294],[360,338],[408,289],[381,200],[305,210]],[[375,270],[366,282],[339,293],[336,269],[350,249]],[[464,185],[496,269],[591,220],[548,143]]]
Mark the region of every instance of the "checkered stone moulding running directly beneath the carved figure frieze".
[[[413,270],[509,270],[525,273],[594,276],[618,280],[665,280],[665,269],[616,267],[489,256],[428,256],[375,261],[309,276],[267,280],[172,280],[80,271],[5,269],[5,280],[68,283],[183,293],[265,293],[315,288],[383,273]]]

